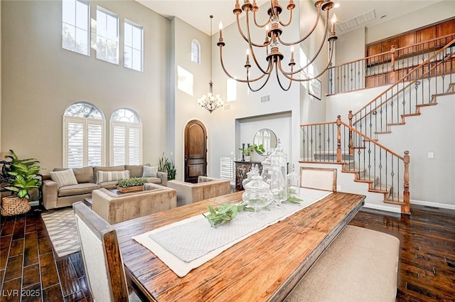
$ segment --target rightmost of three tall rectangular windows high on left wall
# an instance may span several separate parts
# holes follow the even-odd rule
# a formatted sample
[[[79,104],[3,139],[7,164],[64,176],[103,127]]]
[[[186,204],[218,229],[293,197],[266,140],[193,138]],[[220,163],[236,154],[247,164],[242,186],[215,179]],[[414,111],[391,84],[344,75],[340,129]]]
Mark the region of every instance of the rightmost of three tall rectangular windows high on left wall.
[[[125,20],[124,29],[124,66],[142,71],[143,27]]]

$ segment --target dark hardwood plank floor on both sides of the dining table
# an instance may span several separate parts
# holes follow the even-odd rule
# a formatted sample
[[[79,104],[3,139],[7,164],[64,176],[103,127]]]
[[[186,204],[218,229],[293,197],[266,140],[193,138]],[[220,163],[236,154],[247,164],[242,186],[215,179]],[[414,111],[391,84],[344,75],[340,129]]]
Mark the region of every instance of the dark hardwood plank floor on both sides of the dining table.
[[[455,210],[412,206],[407,216],[365,209],[350,225],[400,239],[397,301],[455,301]],[[0,302],[92,301],[80,252],[57,258],[40,212],[1,217],[0,284]]]

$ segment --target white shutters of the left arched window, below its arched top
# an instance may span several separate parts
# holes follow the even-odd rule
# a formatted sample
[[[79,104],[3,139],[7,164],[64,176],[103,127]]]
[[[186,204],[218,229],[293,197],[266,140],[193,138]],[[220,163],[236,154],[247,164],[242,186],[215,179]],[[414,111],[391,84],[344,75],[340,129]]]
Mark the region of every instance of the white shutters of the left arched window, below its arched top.
[[[63,116],[63,166],[104,166],[105,121]]]

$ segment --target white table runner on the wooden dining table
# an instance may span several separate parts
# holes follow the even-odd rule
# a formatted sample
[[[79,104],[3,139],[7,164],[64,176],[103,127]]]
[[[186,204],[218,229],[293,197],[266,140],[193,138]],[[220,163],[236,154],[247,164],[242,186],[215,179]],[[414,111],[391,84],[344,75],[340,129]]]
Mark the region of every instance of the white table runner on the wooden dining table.
[[[226,225],[210,227],[203,215],[174,222],[156,230],[132,237],[159,257],[178,276],[183,277],[191,269],[213,259],[237,242],[250,237],[269,225],[284,220],[295,212],[326,198],[331,192],[301,188],[300,205],[283,203],[271,210],[262,210],[266,217],[250,217],[251,212],[240,212]]]

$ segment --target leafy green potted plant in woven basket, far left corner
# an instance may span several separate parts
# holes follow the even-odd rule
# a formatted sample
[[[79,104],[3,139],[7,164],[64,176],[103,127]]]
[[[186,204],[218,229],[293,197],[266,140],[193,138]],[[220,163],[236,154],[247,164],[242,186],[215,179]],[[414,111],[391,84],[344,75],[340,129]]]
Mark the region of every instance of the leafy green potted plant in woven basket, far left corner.
[[[19,215],[31,210],[28,198],[29,190],[39,188],[41,181],[38,173],[41,169],[35,158],[19,159],[13,150],[5,156],[9,161],[0,161],[1,167],[1,192],[9,191],[12,194],[1,199],[1,215]]]

